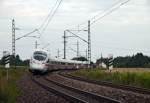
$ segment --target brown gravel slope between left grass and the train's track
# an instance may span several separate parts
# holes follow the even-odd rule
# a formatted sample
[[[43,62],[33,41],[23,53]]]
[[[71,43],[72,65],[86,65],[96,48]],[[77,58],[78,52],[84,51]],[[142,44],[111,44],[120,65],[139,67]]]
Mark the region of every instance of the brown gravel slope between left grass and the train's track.
[[[18,103],[68,103],[65,99],[35,84],[29,74],[24,75],[18,81],[18,85],[22,91]]]

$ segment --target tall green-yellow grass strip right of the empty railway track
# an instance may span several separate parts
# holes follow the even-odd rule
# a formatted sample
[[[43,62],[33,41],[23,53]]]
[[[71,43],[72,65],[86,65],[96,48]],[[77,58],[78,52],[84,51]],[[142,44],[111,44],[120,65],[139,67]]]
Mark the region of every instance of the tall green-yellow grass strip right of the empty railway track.
[[[71,73],[71,75],[150,89],[150,71],[145,70],[109,72],[100,69],[82,69]]]

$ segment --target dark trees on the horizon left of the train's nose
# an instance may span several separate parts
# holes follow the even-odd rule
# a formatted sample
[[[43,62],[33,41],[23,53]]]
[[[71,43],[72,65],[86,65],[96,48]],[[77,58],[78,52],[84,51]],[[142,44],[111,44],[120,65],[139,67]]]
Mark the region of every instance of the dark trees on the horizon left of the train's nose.
[[[28,66],[29,65],[29,60],[21,60],[19,55],[16,55],[16,57],[14,55],[10,56],[10,65],[11,66]],[[4,65],[5,64],[5,60],[2,57],[0,60],[0,65]]]

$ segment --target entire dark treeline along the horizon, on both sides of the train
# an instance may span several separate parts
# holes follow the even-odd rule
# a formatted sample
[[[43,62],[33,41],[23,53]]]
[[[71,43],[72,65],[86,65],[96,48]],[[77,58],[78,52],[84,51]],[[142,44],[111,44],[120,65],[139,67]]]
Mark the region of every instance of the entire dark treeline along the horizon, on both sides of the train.
[[[86,58],[84,57],[79,57],[79,58],[73,58],[73,60],[79,60],[79,61],[87,61]],[[105,63],[107,66],[109,65],[108,58],[100,58],[97,60],[96,64],[98,63]],[[0,65],[4,65],[5,61],[4,58],[2,57],[0,59]],[[19,55],[16,55],[14,57],[13,55],[10,56],[10,65],[15,65],[16,66],[28,66],[29,65],[29,60],[21,60]],[[126,57],[116,57],[113,60],[113,66],[116,68],[150,68],[150,57],[145,56],[142,53],[137,53],[136,55],[133,56],[126,56]]]

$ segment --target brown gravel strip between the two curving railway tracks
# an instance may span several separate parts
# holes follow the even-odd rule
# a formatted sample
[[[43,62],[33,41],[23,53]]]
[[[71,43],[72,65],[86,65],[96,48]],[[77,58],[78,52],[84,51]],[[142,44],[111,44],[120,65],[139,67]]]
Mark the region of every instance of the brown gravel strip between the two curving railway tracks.
[[[108,96],[124,103],[150,103],[150,95],[146,94],[140,94],[131,91],[125,91],[121,89],[73,80],[70,78],[62,77],[58,74],[49,75],[48,78],[84,91]]]

